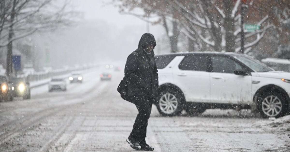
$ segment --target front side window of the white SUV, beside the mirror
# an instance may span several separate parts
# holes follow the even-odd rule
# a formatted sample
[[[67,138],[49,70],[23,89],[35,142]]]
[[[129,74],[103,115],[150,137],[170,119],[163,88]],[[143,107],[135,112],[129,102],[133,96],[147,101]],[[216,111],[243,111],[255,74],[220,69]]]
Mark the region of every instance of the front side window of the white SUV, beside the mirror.
[[[243,67],[231,58],[226,56],[213,56],[212,72],[218,73],[234,73],[235,70],[243,70]]]

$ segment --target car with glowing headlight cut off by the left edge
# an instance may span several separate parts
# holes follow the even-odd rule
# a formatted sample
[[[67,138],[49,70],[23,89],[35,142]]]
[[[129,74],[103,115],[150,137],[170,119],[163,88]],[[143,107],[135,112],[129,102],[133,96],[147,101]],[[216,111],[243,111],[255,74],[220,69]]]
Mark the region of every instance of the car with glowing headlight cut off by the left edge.
[[[0,102],[12,101],[13,96],[11,94],[11,86],[8,83],[8,78],[6,76],[0,75]]]

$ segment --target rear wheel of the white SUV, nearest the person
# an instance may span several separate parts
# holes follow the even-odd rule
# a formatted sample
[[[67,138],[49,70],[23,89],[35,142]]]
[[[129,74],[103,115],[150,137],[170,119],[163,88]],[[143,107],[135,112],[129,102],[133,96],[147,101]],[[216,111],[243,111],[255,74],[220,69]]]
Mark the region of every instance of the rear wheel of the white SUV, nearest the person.
[[[182,112],[183,100],[173,89],[162,90],[157,97],[157,109],[162,116],[178,116]]]

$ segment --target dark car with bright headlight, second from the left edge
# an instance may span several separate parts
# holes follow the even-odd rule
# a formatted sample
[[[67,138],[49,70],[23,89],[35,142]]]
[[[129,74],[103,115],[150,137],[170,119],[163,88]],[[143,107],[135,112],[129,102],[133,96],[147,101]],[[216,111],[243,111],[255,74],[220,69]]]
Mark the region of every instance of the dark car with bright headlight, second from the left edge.
[[[30,84],[25,78],[11,78],[10,83],[12,84],[12,96],[22,97],[23,100],[30,99]]]

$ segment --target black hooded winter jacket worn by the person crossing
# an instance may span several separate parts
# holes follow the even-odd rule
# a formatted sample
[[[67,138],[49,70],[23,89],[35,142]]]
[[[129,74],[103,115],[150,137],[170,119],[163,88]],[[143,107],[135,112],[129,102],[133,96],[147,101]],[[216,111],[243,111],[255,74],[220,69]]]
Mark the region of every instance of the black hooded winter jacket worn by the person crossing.
[[[138,49],[127,58],[125,77],[128,81],[128,96],[156,96],[158,71],[153,50],[150,54],[144,50],[148,44],[155,47],[156,41],[152,34],[145,33],[139,41]]]

